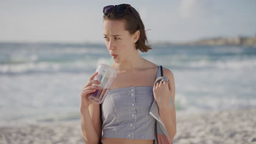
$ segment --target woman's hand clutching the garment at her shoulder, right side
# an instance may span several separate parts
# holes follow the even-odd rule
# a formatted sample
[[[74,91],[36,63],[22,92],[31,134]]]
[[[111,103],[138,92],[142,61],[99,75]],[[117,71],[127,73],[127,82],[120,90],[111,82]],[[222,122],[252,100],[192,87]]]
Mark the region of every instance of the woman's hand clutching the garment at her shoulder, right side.
[[[156,83],[153,87],[153,93],[156,103],[159,106],[169,106],[169,101],[171,99],[171,83],[170,80],[168,82],[161,81]]]

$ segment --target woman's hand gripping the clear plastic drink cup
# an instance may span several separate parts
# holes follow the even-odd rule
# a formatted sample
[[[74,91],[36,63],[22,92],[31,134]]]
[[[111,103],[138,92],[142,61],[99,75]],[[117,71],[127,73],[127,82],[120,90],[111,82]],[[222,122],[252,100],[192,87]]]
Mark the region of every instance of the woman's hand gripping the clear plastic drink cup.
[[[92,102],[89,100],[89,95],[91,93],[94,93],[96,89],[100,89],[100,86],[92,86],[92,83],[95,83],[97,85],[100,85],[101,82],[94,80],[94,77],[98,74],[96,71],[92,76],[90,77],[90,80],[88,83],[83,87],[82,92],[80,93],[80,111],[83,111],[83,109],[86,109],[89,107]]]

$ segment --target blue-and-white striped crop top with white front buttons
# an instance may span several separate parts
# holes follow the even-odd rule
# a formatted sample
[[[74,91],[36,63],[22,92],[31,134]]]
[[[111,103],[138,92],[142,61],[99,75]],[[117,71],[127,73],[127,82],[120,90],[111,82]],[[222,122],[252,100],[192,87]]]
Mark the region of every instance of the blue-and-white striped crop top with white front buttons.
[[[158,67],[156,79],[160,76]],[[102,137],[155,140],[153,101],[153,86],[109,89],[101,105]]]

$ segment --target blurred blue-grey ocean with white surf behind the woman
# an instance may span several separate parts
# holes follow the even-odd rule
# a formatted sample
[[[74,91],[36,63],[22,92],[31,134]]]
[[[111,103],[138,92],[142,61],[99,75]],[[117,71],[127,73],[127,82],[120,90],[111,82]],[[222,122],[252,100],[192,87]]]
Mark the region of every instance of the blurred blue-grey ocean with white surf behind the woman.
[[[256,106],[256,47],[158,46],[143,58],[170,69],[176,113]],[[80,119],[80,91],[104,44],[0,43],[0,125]]]

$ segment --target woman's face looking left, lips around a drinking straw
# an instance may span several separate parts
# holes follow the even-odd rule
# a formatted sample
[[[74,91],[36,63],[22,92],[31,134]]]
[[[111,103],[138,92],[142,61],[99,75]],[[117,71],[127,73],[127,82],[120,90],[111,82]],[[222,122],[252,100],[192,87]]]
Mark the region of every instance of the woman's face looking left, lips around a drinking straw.
[[[110,55],[118,55],[114,58],[117,63],[131,57],[136,50],[136,37],[125,30],[124,21],[104,20],[103,35]]]

